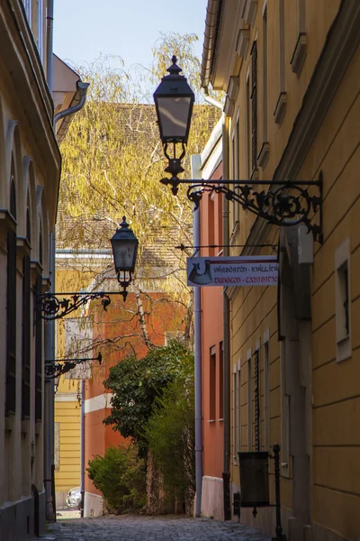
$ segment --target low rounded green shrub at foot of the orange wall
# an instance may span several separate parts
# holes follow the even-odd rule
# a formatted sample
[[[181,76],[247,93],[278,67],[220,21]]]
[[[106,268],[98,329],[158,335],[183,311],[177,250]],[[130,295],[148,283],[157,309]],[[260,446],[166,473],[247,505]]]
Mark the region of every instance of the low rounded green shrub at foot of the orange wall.
[[[95,455],[88,466],[86,472],[96,489],[103,493],[111,512],[121,513],[145,505],[146,473],[134,447],[108,447],[103,456]]]

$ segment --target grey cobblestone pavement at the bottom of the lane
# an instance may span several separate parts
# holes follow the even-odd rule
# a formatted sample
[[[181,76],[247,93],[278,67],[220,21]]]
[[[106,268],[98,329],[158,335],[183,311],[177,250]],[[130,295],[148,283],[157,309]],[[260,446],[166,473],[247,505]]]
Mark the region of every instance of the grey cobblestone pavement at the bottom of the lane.
[[[49,525],[45,539],[57,541],[270,541],[236,522],[178,516],[65,518]]]

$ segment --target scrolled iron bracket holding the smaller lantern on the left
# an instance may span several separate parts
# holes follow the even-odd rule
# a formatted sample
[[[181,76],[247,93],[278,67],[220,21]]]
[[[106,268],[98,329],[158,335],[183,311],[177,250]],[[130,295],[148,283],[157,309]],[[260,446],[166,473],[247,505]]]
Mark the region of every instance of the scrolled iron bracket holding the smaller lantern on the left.
[[[68,298],[59,298],[59,295],[67,295]],[[95,298],[102,299],[103,309],[106,310],[111,303],[109,295],[109,293],[103,291],[94,293],[41,293],[36,296],[36,308],[39,310],[42,319],[51,321],[71,314],[71,312]]]

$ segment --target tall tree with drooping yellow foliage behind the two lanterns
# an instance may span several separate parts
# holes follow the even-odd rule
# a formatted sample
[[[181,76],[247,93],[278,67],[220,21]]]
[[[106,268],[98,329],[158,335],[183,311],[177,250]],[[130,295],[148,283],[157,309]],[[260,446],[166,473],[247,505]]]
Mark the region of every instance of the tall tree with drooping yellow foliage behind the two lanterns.
[[[154,286],[148,287],[150,283],[157,284],[155,289],[163,293],[164,302],[182,307],[187,344],[192,336],[192,290],[186,286],[185,276],[187,254],[175,246],[192,244],[193,208],[184,189],[174,197],[159,182],[164,177],[166,160],[151,95],[175,54],[201,100],[199,60],[193,54],[195,40],[193,34],[162,34],[153,50],[152,66],[138,67],[135,79],[121,68],[112,68],[109,59],[103,57],[76,68],[90,83],[88,98],[61,144],[58,247],[74,251],[110,249],[109,239],[121,217],[126,216],[139,238],[131,289],[137,300],[136,314],[130,310],[127,316],[139,318],[139,334],[150,348],[153,344],[147,313],[151,302],[155,302],[148,292],[154,290]],[[194,105],[184,160],[187,178],[190,156],[202,151],[218,118],[218,111],[211,105]],[[102,276],[113,276],[112,264],[99,269],[98,263],[87,261],[81,271],[87,271],[97,282]]]

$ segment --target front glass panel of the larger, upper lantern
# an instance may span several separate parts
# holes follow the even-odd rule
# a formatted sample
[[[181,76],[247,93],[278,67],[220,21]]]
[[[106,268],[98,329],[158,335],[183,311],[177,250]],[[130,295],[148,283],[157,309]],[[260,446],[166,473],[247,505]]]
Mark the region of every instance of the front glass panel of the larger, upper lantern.
[[[163,140],[185,140],[191,97],[157,97],[160,130]]]

